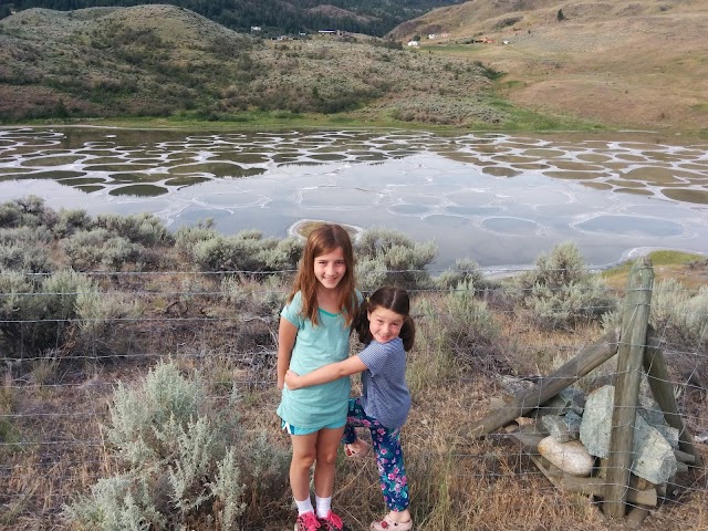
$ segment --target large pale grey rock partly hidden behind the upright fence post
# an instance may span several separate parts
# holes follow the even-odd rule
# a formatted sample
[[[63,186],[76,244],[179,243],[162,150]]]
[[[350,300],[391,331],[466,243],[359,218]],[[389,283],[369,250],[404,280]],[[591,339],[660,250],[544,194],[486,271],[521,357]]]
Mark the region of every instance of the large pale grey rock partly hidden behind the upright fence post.
[[[587,396],[580,440],[593,456],[610,456],[614,394],[614,386],[605,385]],[[671,445],[642,415],[636,416],[634,426],[631,468],[636,476],[653,483],[667,482],[678,469]]]

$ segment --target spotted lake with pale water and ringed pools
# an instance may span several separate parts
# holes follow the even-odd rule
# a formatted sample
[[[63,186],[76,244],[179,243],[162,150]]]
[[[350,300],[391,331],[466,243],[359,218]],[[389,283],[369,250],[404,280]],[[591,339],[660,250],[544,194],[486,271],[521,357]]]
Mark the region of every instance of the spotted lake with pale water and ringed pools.
[[[435,239],[440,268],[529,264],[574,240],[593,266],[634,248],[708,251],[708,145],[642,133],[0,129],[0,198],[170,227],[285,236],[303,218]]]

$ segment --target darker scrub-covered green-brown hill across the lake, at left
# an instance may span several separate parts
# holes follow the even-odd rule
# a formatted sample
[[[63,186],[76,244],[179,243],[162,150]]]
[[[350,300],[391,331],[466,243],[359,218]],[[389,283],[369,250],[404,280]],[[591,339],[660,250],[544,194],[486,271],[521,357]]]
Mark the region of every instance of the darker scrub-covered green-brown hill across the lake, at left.
[[[368,37],[257,40],[170,6],[31,9],[0,21],[0,119],[354,112],[498,124],[490,80]]]

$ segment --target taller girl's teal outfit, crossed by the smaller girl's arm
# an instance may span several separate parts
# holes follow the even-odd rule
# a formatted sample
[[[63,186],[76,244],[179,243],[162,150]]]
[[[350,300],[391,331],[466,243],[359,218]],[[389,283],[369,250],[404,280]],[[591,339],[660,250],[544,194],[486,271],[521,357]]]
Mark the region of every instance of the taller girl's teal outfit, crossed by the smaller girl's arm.
[[[362,294],[356,292],[361,303]],[[320,324],[301,313],[302,295],[295,293],[280,315],[298,327],[295,344],[290,358],[290,369],[305,375],[331,363],[346,360],[350,353],[350,331],[342,313],[320,310]],[[339,378],[326,384],[282,391],[278,415],[298,428],[316,431],[329,426],[344,426],[351,392],[350,378]]]

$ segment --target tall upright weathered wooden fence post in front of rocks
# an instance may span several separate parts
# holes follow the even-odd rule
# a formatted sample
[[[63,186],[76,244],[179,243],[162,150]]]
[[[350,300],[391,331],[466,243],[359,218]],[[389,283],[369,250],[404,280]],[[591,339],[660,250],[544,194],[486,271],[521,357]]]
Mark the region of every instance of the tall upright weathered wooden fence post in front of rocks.
[[[607,487],[603,511],[611,518],[624,518],[629,486],[632,448],[644,348],[649,320],[654,270],[648,258],[638,260],[627,280],[622,313],[622,333],[617,348],[617,381],[610,436]]]

